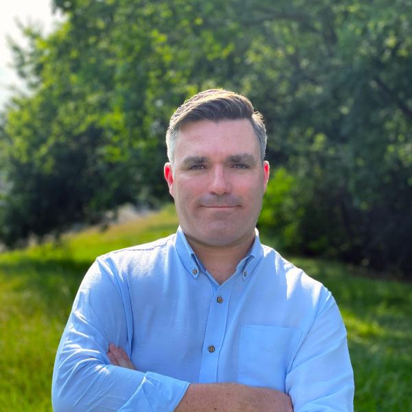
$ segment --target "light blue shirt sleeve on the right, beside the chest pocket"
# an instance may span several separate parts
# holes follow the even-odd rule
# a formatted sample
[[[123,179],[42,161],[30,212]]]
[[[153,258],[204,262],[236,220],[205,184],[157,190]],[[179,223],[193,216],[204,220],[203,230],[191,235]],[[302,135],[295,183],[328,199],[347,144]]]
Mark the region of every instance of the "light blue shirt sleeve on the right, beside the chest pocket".
[[[295,412],[353,411],[354,376],[345,325],[326,289],[286,376],[286,393]]]

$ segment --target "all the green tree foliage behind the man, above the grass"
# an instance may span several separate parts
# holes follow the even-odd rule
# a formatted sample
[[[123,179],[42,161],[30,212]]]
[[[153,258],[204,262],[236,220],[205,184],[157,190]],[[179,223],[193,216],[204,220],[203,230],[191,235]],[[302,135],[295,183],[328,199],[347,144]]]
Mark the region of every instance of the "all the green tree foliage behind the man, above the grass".
[[[3,242],[163,201],[170,114],[218,86],[264,113],[268,160],[284,170],[263,230],[291,251],[412,273],[409,0],[54,7],[67,18],[56,32],[27,27],[30,47],[12,46],[31,92],[1,121]]]

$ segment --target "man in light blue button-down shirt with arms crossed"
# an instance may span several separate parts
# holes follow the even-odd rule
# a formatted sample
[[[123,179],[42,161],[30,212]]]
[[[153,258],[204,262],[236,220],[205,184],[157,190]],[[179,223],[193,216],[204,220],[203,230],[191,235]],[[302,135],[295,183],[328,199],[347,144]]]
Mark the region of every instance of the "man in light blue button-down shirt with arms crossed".
[[[255,229],[269,176],[260,114],[203,91],[166,142],[179,229],[91,266],[58,348],[54,409],[352,411],[332,295]]]

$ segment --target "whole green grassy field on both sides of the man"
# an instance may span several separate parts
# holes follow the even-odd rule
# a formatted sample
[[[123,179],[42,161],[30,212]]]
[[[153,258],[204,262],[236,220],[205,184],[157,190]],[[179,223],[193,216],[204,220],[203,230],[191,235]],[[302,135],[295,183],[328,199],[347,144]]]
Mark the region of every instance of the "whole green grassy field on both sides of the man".
[[[78,285],[97,255],[167,236],[171,208],[0,254],[0,411],[51,411],[54,355]],[[265,240],[271,243],[271,240]],[[336,262],[291,258],[327,286],[343,314],[356,411],[412,411],[412,285],[361,277]]]

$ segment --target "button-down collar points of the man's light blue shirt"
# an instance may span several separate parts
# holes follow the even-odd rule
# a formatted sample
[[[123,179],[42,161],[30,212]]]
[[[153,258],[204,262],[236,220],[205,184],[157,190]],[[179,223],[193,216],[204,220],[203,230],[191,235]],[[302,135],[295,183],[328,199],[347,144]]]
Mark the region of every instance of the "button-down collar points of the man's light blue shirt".
[[[205,266],[203,266],[202,262],[198,259],[189,242],[187,242],[185,233],[183,233],[180,226],[176,231],[176,251],[179,254],[179,258],[181,258],[183,266],[185,266],[185,269],[194,278],[197,278],[201,271],[206,273]],[[236,268],[238,273],[242,273],[242,278],[244,280],[251,275],[253,269],[258,265],[262,256],[263,247],[260,243],[259,231],[258,229],[255,229],[255,240],[252,247],[247,255],[240,260]]]

